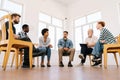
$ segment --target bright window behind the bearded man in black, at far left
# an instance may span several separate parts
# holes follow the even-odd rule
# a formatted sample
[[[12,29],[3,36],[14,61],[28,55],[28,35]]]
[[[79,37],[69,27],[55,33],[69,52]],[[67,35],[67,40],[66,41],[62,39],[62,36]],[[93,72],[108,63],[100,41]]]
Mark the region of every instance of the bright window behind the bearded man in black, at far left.
[[[1,0],[0,0],[1,1]],[[0,10],[0,17],[9,13],[19,13],[20,15],[22,15],[23,13],[23,5],[10,1],[10,0],[2,0],[4,1],[2,4],[3,6],[1,6],[1,10]],[[16,27],[16,32],[20,32],[21,31],[21,26],[22,26],[22,18],[20,20],[20,23],[15,25]]]

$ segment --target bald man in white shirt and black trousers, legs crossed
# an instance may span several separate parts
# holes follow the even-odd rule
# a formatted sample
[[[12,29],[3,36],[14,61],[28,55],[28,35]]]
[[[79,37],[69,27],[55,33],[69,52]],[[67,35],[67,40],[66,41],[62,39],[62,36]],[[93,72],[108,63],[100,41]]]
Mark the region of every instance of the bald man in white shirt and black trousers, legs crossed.
[[[88,30],[88,37],[85,39],[87,47],[81,47],[81,54],[79,58],[81,59],[81,65],[86,61],[86,56],[92,53],[93,47],[97,42],[97,37],[93,35],[93,29]]]

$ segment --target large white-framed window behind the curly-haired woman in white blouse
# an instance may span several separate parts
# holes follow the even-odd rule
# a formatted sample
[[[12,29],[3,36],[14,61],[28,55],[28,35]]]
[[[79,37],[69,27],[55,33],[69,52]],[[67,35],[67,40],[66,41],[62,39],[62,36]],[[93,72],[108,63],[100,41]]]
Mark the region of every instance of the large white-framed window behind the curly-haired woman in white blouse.
[[[53,45],[53,49],[57,50],[58,40],[62,38],[63,33],[63,20],[58,19],[53,16],[49,16],[44,13],[39,14],[39,28],[38,28],[38,38],[41,35],[41,30],[43,28],[49,29],[49,37],[51,39],[51,44]]]

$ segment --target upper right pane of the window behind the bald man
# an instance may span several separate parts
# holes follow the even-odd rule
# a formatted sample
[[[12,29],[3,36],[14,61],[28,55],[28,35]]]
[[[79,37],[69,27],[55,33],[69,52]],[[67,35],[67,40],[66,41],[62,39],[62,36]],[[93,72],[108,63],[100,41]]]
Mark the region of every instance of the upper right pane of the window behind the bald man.
[[[97,12],[97,13],[88,15],[88,16],[87,16],[87,21],[88,21],[88,23],[89,23],[89,22],[94,22],[94,21],[100,20],[101,18],[102,18],[102,17],[101,17],[101,12]]]

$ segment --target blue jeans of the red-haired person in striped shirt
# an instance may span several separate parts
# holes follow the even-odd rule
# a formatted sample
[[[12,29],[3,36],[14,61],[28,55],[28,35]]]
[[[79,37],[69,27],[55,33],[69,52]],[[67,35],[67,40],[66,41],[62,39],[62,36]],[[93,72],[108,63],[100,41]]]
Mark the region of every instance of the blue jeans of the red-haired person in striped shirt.
[[[92,54],[96,57],[102,57],[103,53],[103,43],[98,40],[95,47],[93,48]]]

